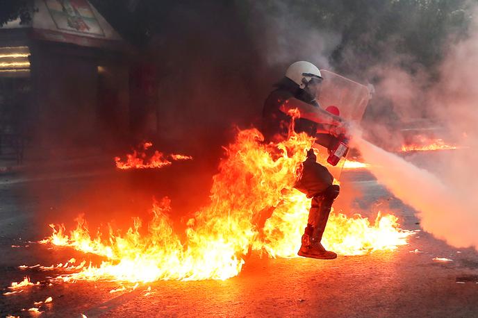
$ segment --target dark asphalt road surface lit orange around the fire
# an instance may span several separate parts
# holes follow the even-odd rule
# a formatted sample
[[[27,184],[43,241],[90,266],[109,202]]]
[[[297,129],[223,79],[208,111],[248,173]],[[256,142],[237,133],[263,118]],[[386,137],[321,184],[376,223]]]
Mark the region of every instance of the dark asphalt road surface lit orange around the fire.
[[[85,160],[85,165],[61,169],[1,173],[0,287],[27,275],[40,285],[3,296],[0,317],[478,317],[477,251],[456,249],[423,231],[396,251],[329,261],[252,254],[241,273],[226,281],[158,281],[135,290],[126,285],[122,292],[111,292],[119,284],[105,281],[49,285],[49,276],[61,271],[18,269],[81,256],[35,243],[50,234],[51,222],[71,226],[79,212],[93,224],[145,217],[153,195],[170,196],[179,219],[208,200],[213,172],[181,162],[159,171],[124,173],[106,160],[94,167]],[[367,171],[347,172],[343,183],[363,192],[356,201],[361,208],[385,199],[402,228],[420,229],[415,211]],[[452,261],[433,260],[437,257]],[[26,311],[49,296],[53,302],[40,305],[42,314]]]

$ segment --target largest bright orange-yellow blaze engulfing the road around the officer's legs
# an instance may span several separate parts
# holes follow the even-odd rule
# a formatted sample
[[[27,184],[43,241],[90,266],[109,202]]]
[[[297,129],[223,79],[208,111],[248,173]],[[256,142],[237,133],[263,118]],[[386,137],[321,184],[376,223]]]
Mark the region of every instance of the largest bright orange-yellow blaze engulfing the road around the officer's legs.
[[[108,233],[92,234],[83,217],[76,219],[77,226],[69,233],[63,225],[51,226],[47,242],[106,258],[100,265],[90,263],[58,277],[131,283],[224,280],[239,274],[249,250],[265,251],[270,257],[298,257],[311,200],[293,185],[312,144],[313,138],[305,133],[292,134],[279,144],[264,144],[256,129],[239,131],[213,176],[211,202],[188,220],[183,235],[173,231],[167,198],[154,203],[146,231],[140,231],[139,218],[124,233],[110,228]],[[272,216],[260,225],[257,220],[267,210],[273,210]],[[343,255],[360,255],[396,249],[406,244],[409,235],[399,229],[393,215],[379,214],[370,224],[360,215],[332,212],[323,243]]]

